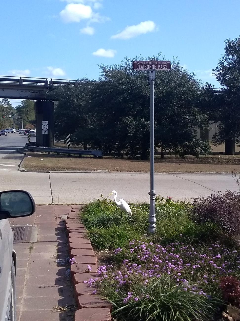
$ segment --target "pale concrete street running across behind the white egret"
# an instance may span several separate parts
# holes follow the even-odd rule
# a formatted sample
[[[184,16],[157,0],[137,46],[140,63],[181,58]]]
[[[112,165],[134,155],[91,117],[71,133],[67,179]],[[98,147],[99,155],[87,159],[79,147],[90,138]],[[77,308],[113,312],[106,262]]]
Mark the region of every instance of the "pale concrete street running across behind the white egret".
[[[30,173],[0,171],[1,190],[25,189],[36,204],[86,204],[115,189],[129,202],[149,202],[149,173]],[[171,173],[155,174],[156,195],[175,200],[208,196],[239,188],[231,174]]]

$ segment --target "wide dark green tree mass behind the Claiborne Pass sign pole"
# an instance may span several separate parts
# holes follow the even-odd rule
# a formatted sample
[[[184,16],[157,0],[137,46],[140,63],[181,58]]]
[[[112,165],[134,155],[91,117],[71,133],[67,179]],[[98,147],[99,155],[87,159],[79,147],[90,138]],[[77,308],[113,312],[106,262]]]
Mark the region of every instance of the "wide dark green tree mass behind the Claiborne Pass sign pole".
[[[60,99],[55,108],[56,136],[65,139],[71,134],[74,143],[88,144],[106,155],[120,157],[125,153],[148,159],[148,73],[134,71],[128,58],[119,65],[101,65],[100,69],[98,82],[85,81],[80,86],[54,90]],[[156,147],[183,157],[209,151],[208,143],[196,138],[195,127],[207,126],[207,118],[199,108],[201,92],[197,86],[195,75],[176,61],[171,71],[157,73]]]

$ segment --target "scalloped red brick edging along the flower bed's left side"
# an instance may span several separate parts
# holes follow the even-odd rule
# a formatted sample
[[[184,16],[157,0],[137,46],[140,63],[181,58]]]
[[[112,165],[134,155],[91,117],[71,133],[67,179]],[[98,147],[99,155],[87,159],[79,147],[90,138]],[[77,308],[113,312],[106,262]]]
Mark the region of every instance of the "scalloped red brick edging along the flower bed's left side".
[[[98,295],[94,295],[94,288],[84,283],[90,278],[98,277],[97,257],[94,255],[87,230],[79,220],[79,213],[83,205],[73,205],[71,213],[65,220],[68,236],[69,257],[75,258],[76,263],[71,265],[71,281],[74,287],[74,296],[77,304],[75,321],[111,321],[111,304]],[[88,271],[88,265],[91,272]]]

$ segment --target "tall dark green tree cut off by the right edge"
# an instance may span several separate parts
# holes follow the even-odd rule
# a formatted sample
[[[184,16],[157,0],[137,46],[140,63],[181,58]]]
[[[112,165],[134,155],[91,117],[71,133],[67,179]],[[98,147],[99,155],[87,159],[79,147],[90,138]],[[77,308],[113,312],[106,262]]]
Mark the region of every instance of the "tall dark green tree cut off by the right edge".
[[[225,54],[213,69],[217,81],[224,87],[213,117],[218,124],[215,145],[225,141],[225,153],[235,153],[240,146],[240,36],[225,41]]]

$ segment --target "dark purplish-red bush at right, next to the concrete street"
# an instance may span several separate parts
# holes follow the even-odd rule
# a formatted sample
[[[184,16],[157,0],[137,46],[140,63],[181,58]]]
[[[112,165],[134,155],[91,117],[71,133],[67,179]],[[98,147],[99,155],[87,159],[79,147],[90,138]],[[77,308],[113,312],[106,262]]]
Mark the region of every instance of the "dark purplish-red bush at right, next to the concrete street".
[[[240,195],[231,191],[211,194],[193,201],[193,220],[198,224],[214,223],[228,233],[240,232]]]

